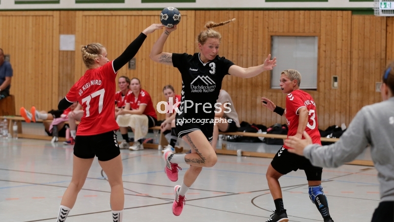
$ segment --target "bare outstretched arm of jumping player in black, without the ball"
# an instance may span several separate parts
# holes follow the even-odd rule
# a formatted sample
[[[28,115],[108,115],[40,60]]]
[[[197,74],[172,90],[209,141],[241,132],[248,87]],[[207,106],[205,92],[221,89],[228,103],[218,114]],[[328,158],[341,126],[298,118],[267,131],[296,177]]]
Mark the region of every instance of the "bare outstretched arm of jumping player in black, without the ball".
[[[242,68],[233,65],[229,69],[229,74],[241,78],[250,78],[258,74],[261,74],[266,70],[272,70],[275,66],[276,66],[276,57],[274,57],[271,60],[271,54],[269,54],[268,57],[265,59],[264,64],[260,66],[249,67],[249,68]]]

